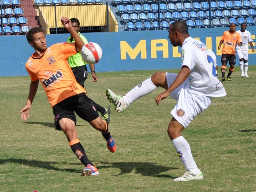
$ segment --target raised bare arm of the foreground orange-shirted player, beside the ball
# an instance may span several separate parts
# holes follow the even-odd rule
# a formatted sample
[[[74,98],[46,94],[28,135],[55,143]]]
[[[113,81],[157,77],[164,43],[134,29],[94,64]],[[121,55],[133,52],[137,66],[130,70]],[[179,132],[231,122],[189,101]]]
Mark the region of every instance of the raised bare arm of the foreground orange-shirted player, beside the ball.
[[[61,17],[60,20],[70,35],[75,39],[77,51],[81,51],[82,47],[84,46],[84,42],[76,32],[75,28],[72,26],[71,20],[68,17]]]

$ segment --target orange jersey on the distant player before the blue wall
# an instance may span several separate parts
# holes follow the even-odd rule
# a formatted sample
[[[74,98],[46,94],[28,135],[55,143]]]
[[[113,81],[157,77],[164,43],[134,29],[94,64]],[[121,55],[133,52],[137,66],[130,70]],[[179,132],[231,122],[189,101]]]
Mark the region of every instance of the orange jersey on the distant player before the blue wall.
[[[242,42],[240,34],[238,32],[235,32],[234,34],[231,34],[229,31],[224,31],[221,40],[224,42],[224,46],[222,48],[222,54],[229,54],[229,55],[235,55],[235,47],[237,42]]]

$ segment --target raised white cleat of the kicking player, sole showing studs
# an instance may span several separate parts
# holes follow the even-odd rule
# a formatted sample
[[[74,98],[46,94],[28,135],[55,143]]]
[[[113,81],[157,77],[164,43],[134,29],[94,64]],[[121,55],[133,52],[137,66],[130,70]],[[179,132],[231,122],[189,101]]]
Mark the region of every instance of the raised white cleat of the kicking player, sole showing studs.
[[[124,104],[123,96],[114,94],[110,89],[106,90],[106,96],[109,101],[115,105],[118,113],[121,113],[126,109],[127,106]]]

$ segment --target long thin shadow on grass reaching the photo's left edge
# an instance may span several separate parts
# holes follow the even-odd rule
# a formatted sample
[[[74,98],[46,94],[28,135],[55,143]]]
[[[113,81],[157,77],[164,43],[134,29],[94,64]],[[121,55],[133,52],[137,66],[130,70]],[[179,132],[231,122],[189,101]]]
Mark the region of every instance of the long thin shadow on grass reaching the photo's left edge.
[[[15,158],[0,159],[0,164],[6,164],[6,163],[17,163],[17,164],[21,164],[21,165],[34,166],[34,167],[44,168],[44,169],[49,169],[49,170],[54,170],[54,171],[68,171],[68,172],[81,173],[81,170],[77,170],[77,169],[56,168],[52,165],[60,164],[60,163],[54,162],[54,161],[37,161],[37,160],[27,160],[27,159],[15,159]]]

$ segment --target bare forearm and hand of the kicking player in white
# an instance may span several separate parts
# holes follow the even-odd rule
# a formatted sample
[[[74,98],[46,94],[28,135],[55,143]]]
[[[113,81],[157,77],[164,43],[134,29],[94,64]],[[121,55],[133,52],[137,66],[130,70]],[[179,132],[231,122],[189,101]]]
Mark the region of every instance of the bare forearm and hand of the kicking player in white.
[[[180,86],[187,78],[188,75],[190,74],[190,69],[188,68],[188,66],[182,66],[180,72],[178,73],[176,79],[173,81],[172,85],[170,85],[170,87],[166,90],[163,91],[162,93],[158,94],[157,97],[155,98],[155,102],[157,103],[157,105],[159,105],[159,103],[165,99],[166,97],[169,96],[169,94],[175,90],[178,86]]]

